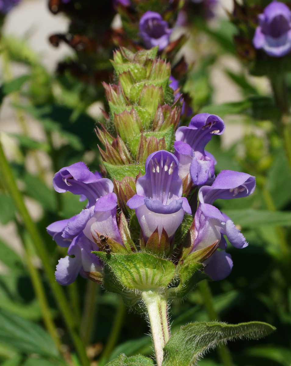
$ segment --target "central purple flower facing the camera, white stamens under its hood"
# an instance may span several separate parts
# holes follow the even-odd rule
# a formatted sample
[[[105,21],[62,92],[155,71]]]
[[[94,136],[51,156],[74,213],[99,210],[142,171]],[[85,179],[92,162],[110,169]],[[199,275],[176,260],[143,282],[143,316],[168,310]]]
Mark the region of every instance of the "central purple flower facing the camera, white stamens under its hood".
[[[178,176],[177,158],[166,150],[150,154],[145,162],[145,175],[137,179],[136,192],[126,203],[135,213],[147,240],[158,228],[169,239],[181,224],[189,203],[182,197],[182,180]]]

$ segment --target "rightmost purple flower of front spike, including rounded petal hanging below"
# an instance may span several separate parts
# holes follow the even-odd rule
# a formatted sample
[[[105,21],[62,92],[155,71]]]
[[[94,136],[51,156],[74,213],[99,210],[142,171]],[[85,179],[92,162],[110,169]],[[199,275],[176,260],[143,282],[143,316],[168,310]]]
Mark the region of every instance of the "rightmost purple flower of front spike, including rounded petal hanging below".
[[[235,227],[233,221],[212,203],[219,198],[232,199],[246,197],[253,193],[256,186],[255,177],[246,173],[223,170],[218,174],[212,186],[200,188],[199,205],[195,213],[196,237],[191,251],[196,251],[220,241],[219,250],[208,259],[205,272],[213,280],[220,280],[229,275],[232,268],[230,254],[225,252],[225,235],[235,248],[245,248],[248,244]]]

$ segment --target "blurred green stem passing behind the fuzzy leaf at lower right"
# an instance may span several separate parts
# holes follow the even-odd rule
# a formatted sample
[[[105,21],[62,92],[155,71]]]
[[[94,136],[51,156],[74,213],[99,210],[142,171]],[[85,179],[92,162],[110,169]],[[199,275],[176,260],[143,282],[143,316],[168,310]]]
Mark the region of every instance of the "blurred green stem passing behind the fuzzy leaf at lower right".
[[[203,298],[204,305],[207,309],[209,320],[220,320],[219,315],[214,308],[213,297],[207,280],[199,282],[199,290]],[[217,351],[220,361],[224,366],[233,366],[230,352],[225,344],[220,344],[220,347],[218,347]]]

